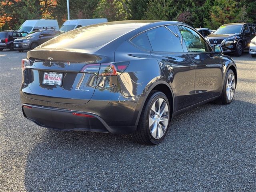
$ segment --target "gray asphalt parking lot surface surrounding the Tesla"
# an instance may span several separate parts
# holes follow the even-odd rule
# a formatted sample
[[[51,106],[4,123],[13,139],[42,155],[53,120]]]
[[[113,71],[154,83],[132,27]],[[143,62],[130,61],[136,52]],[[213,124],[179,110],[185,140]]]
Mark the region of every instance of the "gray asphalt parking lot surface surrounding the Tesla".
[[[60,132],[22,115],[26,52],[0,52],[0,191],[256,191],[256,60],[238,66],[234,101],[171,122],[158,146],[132,136]]]

